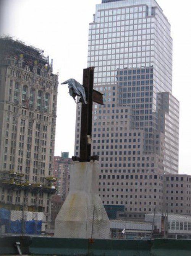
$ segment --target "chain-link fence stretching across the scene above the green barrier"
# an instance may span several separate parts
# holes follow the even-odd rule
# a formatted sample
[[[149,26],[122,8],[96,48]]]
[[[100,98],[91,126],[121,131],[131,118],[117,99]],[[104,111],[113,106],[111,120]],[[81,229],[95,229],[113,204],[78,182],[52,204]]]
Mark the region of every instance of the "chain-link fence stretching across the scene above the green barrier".
[[[52,226],[47,227],[46,216],[23,205],[0,207],[0,234],[46,235],[68,238],[109,238],[144,240],[154,238],[191,239],[191,216],[175,213],[152,212],[144,215],[117,212],[112,208],[95,205],[66,204],[57,212]],[[35,211],[36,210],[36,211]],[[109,222],[107,216],[110,218]]]

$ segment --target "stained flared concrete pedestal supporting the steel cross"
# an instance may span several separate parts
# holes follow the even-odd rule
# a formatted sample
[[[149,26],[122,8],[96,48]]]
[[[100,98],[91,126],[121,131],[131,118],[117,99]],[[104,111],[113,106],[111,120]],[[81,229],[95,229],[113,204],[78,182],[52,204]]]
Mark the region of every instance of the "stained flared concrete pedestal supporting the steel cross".
[[[99,164],[73,162],[70,192],[55,219],[55,237],[108,239],[110,221],[98,194]]]

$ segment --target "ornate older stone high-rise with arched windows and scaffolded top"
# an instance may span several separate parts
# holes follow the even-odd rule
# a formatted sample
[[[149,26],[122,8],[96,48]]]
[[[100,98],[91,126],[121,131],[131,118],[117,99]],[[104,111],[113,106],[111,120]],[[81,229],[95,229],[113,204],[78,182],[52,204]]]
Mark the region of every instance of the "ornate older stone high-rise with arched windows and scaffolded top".
[[[0,207],[50,220],[58,76],[42,51],[0,39]]]

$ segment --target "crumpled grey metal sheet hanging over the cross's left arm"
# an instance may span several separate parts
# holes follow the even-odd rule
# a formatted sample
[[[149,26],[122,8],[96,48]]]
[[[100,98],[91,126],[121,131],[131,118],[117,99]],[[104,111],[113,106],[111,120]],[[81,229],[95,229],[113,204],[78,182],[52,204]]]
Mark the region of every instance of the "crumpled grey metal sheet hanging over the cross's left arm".
[[[76,101],[76,96],[79,96],[79,102],[87,104],[85,88],[82,84],[78,83],[75,79],[71,78],[63,82],[62,84],[68,84],[69,94]]]

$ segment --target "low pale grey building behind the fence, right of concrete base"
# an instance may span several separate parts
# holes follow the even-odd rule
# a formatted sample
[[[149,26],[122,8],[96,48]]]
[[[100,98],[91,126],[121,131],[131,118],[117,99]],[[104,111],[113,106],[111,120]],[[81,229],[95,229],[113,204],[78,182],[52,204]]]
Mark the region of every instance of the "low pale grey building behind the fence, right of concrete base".
[[[150,239],[152,238],[191,238],[191,216],[169,213],[149,213],[144,221],[111,220],[110,238]]]

